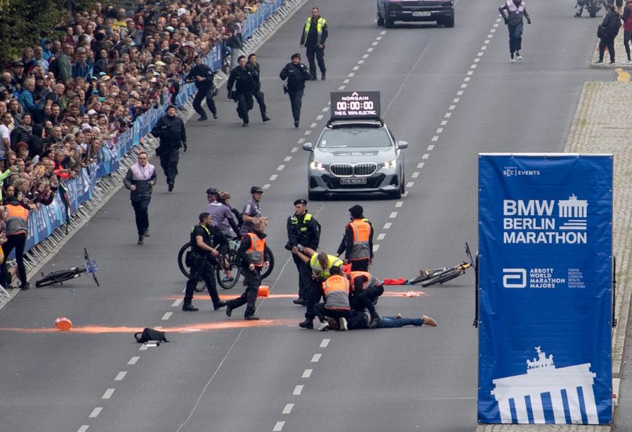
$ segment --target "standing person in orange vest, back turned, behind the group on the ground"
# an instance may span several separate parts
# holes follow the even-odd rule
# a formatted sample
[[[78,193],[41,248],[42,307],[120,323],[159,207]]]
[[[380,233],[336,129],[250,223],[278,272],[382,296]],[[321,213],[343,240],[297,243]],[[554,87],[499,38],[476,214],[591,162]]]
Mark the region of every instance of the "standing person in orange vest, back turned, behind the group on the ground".
[[[361,205],[349,209],[351,222],[345,227],[338,254],[345,252],[345,263],[351,263],[351,271],[368,271],[373,260],[373,224],[364,217]]]

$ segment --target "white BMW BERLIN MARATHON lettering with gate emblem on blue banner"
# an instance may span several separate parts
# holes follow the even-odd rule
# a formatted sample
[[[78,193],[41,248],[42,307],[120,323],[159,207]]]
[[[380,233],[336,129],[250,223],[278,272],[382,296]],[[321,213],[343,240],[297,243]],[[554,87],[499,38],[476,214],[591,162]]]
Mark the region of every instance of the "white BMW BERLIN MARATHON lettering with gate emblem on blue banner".
[[[556,208],[557,207],[557,208]],[[503,243],[586,244],[588,201],[503,199]]]

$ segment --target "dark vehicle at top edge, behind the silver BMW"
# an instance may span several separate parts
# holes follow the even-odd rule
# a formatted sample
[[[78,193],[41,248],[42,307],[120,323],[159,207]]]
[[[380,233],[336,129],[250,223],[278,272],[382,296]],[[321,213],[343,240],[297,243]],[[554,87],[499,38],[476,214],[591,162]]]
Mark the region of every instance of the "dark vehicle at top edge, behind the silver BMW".
[[[377,22],[387,29],[395,21],[436,21],[454,27],[453,0],[377,0]]]

